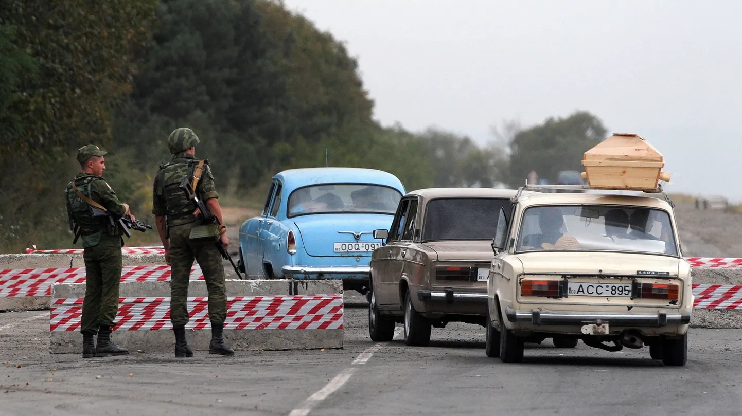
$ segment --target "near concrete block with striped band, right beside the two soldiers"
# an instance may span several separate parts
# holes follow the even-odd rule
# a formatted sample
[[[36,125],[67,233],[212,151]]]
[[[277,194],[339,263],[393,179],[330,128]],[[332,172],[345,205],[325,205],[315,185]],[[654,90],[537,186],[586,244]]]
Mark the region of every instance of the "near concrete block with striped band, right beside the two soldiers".
[[[337,280],[227,280],[224,337],[235,350],[343,348],[343,285]],[[188,289],[188,345],[206,351],[211,340],[206,283]],[[50,352],[82,351],[79,318],[85,283],[52,285]],[[169,282],[121,284],[113,339],[136,353],[172,353]]]

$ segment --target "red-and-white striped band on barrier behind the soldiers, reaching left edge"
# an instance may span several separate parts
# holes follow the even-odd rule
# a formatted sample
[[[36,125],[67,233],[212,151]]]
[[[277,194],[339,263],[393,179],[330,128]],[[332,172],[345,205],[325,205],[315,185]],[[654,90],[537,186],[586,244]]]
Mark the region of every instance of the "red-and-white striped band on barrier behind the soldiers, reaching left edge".
[[[191,280],[203,280],[200,265],[191,267]],[[122,268],[122,282],[170,280],[169,265],[128,265]],[[85,283],[85,268],[20,268],[0,270],[0,297],[51,296],[53,283]]]

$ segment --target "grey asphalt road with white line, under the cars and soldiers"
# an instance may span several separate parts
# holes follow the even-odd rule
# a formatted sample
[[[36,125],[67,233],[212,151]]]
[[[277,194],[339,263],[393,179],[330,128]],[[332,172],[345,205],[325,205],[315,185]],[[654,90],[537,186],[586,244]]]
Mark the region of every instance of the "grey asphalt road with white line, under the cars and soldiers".
[[[354,307],[355,305],[355,307]],[[0,415],[739,415],[742,330],[692,329],[689,362],[582,343],[485,356],[484,329],[450,324],[428,347],[372,343],[362,303],[344,349],[48,354],[47,312],[0,314]],[[398,332],[401,327],[398,327]],[[114,338],[115,340],[115,338]]]

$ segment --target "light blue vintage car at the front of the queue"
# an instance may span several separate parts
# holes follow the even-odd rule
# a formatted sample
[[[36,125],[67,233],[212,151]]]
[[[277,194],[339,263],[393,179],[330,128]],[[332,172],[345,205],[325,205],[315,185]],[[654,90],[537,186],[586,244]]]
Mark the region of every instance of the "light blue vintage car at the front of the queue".
[[[404,185],[366,168],[282,171],[263,212],[240,227],[237,267],[248,279],[341,279],[365,294],[376,229],[390,228]]]

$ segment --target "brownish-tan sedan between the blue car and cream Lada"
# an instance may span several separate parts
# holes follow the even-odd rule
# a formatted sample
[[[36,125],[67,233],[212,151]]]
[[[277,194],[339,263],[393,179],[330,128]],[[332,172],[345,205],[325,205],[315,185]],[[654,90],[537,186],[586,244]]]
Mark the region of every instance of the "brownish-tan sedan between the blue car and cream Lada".
[[[391,340],[404,323],[404,342],[426,346],[431,327],[449,322],[485,326],[487,274],[497,214],[515,190],[430,188],[399,202],[390,230],[370,262],[369,334]]]

